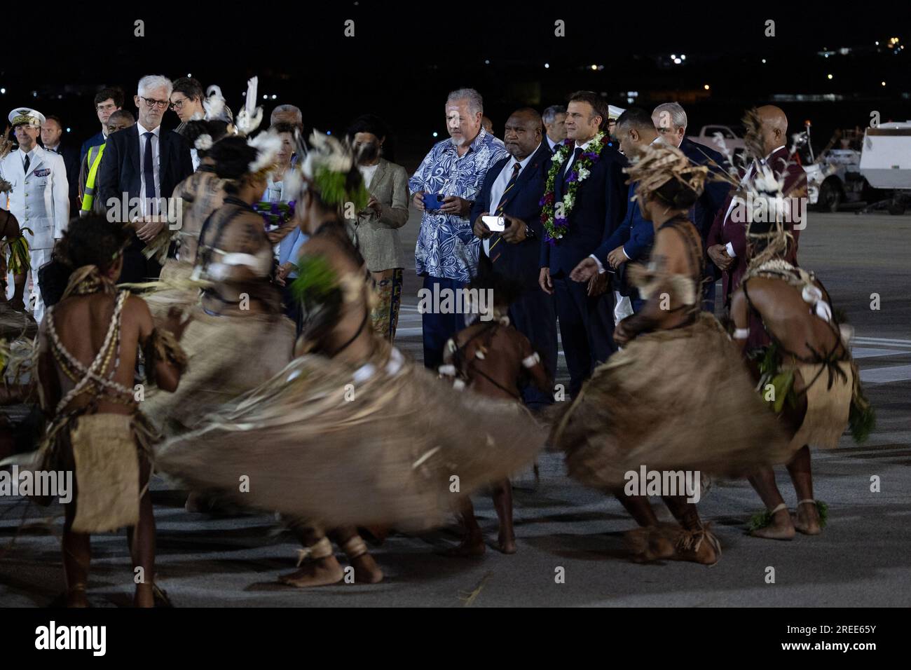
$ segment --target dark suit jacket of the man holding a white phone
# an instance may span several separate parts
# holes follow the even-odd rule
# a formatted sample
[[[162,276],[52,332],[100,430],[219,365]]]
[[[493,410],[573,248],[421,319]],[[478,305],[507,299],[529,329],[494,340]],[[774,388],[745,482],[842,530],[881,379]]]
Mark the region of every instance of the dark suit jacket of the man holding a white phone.
[[[515,216],[526,222],[528,228],[535,232],[535,237],[525,242],[510,244],[501,240],[491,250],[491,255],[496,257],[494,267],[497,272],[507,274],[520,281],[526,288],[537,288],[539,266],[538,257],[541,252],[541,238],[544,228],[541,225],[541,196],[544,195],[544,184],[548,177],[550,167],[550,148],[547,140],[541,142],[535,154],[519,174],[516,185],[507,193],[504,213]],[[484,185],[478,193],[475,204],[471,208],[471,222],[474,223],[484,211],[491,214],[496,210],[498,202],[490,201],[490,190],[496,178],[507,166],[512,157],[498,160],[487,170]],[[484,249],[481,249],[484,253]],[[497,254],[499,256],[497,257]]]

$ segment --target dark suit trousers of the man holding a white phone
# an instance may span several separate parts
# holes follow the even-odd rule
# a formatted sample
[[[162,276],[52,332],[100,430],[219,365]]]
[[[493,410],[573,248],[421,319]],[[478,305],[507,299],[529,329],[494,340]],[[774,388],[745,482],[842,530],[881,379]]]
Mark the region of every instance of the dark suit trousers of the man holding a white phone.
[[[529,286],[509,305],[509,321],[525,335],[541,356],[541,363],[553,379],[557,375],[557,309],[554,296],[539,286]],[[540,409],[554,402],[553,393],[528,385],[522,389],[522,399],[530,409]]]

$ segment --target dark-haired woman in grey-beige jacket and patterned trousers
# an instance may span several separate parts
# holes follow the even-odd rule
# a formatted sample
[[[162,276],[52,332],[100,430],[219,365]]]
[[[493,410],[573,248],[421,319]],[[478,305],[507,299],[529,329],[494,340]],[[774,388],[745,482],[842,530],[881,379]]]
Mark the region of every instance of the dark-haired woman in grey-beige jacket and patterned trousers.
[[[359,117],[346,135],[370,192],[367,206],[352,223],[377,296],[371,320],[374,330],[392,342],[402,304],[404,254],[398,229],[408,222],[408,173],[382,157],[388,136],[382,119]]]

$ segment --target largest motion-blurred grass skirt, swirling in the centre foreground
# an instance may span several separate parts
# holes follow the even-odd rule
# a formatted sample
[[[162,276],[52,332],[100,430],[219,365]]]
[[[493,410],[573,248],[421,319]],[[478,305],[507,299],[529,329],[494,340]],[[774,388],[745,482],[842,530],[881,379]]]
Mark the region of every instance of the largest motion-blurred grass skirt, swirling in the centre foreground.
[[[439,525],[460,498],[543,447],[546,431],[516,403],[460,393],[409,362],[396,371],[386,356],[361,381],[363,368],[297,358],[165,443],[157,465],[194,488],[324,526],[416,530]]]

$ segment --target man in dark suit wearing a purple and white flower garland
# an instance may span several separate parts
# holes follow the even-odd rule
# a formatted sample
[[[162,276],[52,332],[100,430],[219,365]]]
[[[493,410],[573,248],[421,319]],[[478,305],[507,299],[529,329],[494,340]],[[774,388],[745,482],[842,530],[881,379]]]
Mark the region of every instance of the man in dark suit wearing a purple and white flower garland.
[[[604,132],[608,118],[608,104],[597,93],[578,91],[569,97],[567,142],[554,154],[544,195],[542,218],[548,217],[548,222],[538,283],[545,293],[555,295],[572,396],[616,348],[608,274],[596,274],[587,283],[569,277],[579,261],[609,239],[626,214],[626,160],[609,144]],[[599,144],[599,152],[588,150]],[[558,238],[547,231],[548,211],[553,212]]]

